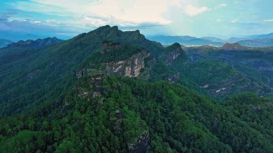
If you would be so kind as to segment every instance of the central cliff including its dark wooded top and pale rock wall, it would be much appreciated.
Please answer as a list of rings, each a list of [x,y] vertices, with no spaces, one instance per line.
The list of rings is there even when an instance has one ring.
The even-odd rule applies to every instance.
[[[95,69],[106,75],[138,77],[145,67],[145,58],[149,56],[150,53],[145,49],[124,46],[120,43],[104,42],[99,53],[90,59],[90,65],[94,65],[92,62],[97,60],[96,64],[100,66]],[[98,58],[100,59],[98,60]],[[79,79],[90,71],[92,68],[84,68],[79,70],[76,76]]]

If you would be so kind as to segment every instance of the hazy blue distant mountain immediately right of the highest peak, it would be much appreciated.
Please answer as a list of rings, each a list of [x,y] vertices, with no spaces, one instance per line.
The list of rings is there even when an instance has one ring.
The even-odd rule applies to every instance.
[[[202,46],[202,45],[212,45],[212,46],[222,46],[222,42],[217,42],[210,40],[211,37],[196,38],[191,36],[149,36],[148,39],[158,41],[164,45],[170,45],[178,42],[186,46]]]

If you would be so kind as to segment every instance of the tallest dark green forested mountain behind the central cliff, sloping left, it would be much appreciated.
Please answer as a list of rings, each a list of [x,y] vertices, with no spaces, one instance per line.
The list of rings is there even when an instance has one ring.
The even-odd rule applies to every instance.
[[[50,94],[48,89],[58,89],[58,86],[64,88],[63,84],[69,83],[71,75],[75,75],[76,71],[83,69],[85,64],[89,65],[89,58],[100,49],[105,41],[144,47],[154,56],[164,51],[161,44],[145,39],[140,31],[122,32],[117,27],[110,26],[100,27],[73,39],[40,49],[21,47],[20,56],[16,55],[18,47],[10,49],[7,47],[0,51],[3,53],[3,59],[7,59],[6,61],[1,60],[4,63],[0,65],[3,72],[0,74],[0,78],[4,81],[0,85],[2,114],[11,113],[11,109],[13,109],[13,113],[20,112],[24,109],[23,106],[27,106],[24,105],[26,102],[28,105],[35,103],[37,100],[32,97],[37,96],[37,92],[41,96],[40,98],[45,99],[52,98],[57,93],[61,94],[61,91],[54,90]],[[13,60],[8,60],[7,56]],[[29,90],[29,97],[25,99],[23,95],[26,89]],[[43,95],[48,96],[44,97]],[[18,101],[18,99],[22,99],[22,101]],[[12,104],[9,106],[10,109],[4,109],[4,105],[7,103]],[[21,107],[17,108],[18,106]]]

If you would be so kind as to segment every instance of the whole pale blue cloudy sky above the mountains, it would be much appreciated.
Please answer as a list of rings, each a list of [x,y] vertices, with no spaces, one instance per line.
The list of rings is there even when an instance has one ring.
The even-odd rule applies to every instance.
[[[272,0],[2,0],[0,31],[68,39],[110,25],[225,39],[273,32],[272,6]]]

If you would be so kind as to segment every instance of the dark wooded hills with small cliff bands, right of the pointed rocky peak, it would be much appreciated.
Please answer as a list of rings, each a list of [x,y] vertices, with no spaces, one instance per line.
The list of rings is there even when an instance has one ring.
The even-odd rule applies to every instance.
[[[252,48],[227,43],[223,47],[186,49],[190,62],[181,71],[185,74],[184,85],[212,97],[242,92],[271,96],[272,47]]]

